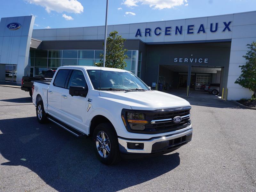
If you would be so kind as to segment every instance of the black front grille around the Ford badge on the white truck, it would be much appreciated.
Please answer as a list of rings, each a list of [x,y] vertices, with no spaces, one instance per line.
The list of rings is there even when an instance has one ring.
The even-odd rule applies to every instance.
[[[153,114],[146,114],[146,119],[151,122],[151,120],[161,120],[161,119],[173,119],[176,116],[186,116],[190,113],[189,108],[174,108],[174,109],[165,109],[157,110]],[[146,124],[146,129],[149,132],[169,132],[175,131],[178,129],[182,129],[187,127],[191,124],[190,118],[182,119],[180,123],[173,123],[171,122],[163,122],[163,123],[156,123],[156,124]]]

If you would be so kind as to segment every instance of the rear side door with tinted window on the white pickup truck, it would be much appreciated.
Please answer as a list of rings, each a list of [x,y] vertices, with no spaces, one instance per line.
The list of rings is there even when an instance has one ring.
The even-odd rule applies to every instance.
[[[53,82],[48,88],[48,113],[63,121],[63,116],[61,116],[61,95],[63,90],[67,89],[67,79],[70,74],[70,69],[59,69],[57,75],[53,79]]]

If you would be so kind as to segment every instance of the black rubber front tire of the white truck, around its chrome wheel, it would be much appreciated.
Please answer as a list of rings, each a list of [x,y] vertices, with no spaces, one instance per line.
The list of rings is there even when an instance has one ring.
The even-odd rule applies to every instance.
[[[97,139],[98,138],[97,136],[99,136],[99,134],[102,132],[107,135],[107,137],[105,137],[105,138],[108,138],[109,142],[106,142],[104,144],[104,148],[101,148],[101,150],[98,150],[97,142],[98,142],[98,144],[100,144],[100,142],[99,142],[100,140]],[[103,164],[106,164],[106,165],[112,165],[112,164],[116,164],[120,161],[120,151],[119,151],[117,135],[116,135],[115,128],[113,127],[113,125],[111,123],[102,123],[102,124],[97,125],[97,127],[95,128],[95,130],[93,132],[93,142],[94,142],[95,154],[96,154],[97,158],[100,160],[100,162],[102,162]],[[100,146],[103,146],[103,144],[100,144]],[[99,148],[100,148],[100,146],[99,146]],[[104,149],[106,152],[106,156],[103,154]],[[107,149],[108,150],[110,149],[109,153],[108,153]],[[102,154],[100,155],[100,153],[102,153]],[[105,157],[103,157],[102,155]]]

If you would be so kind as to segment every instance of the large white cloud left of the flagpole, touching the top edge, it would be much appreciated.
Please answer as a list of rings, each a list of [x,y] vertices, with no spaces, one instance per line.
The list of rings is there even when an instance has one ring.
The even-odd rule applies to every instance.
[[[27,0],[30,4],[40,5],[50,13],[51,11],[82,13],[84,12],[83,5],[77,0]]]

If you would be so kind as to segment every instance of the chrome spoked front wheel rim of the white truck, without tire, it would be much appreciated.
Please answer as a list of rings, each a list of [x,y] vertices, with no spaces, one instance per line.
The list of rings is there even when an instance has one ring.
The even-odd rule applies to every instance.
[[[107,158],[110,153],[110,142],[108,135],[100,131],[96,137],[96,148],[101,157]]]

